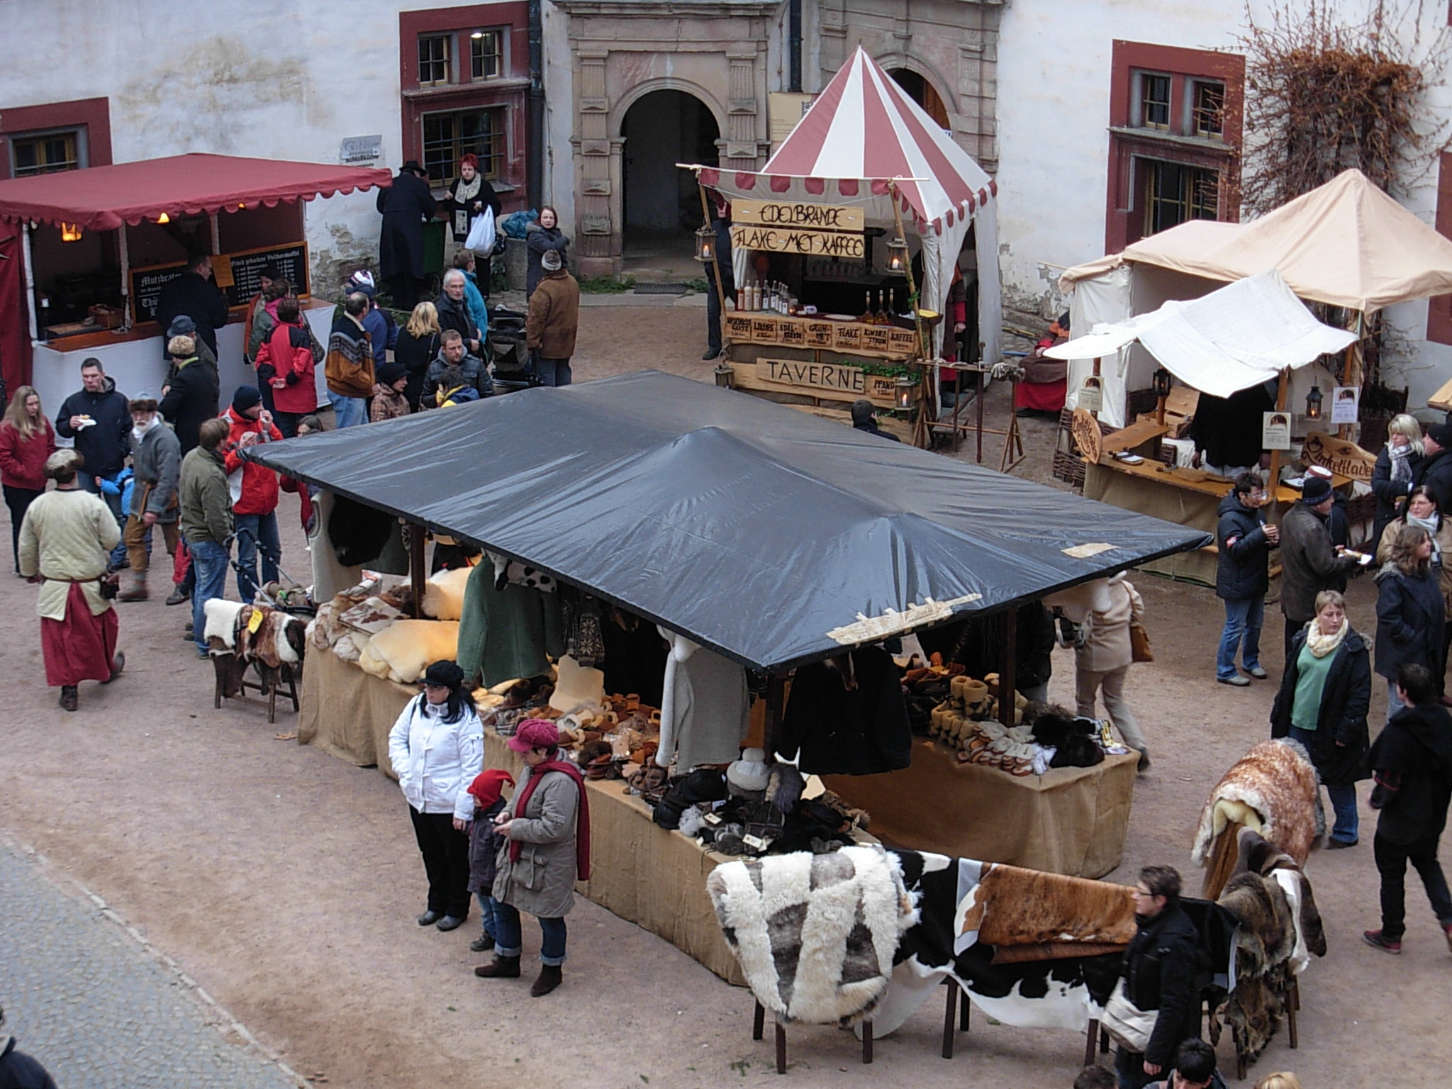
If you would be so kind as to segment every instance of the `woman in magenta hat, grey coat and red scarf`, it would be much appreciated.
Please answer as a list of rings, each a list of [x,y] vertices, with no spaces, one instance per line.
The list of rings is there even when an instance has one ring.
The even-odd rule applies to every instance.
[[[529,775],[498,817],[499,873],[494,878],[494,961],[475,976],[518,979],[523,938],[520,912],[540,921],[540,974],[533,998],[560,983],[565,963],[565,915],[575,906],[575,880],[590,880],[590,803],[585,778],[559,759],[559,730],[544,719],[520,723],[510,748],[524,758]]]

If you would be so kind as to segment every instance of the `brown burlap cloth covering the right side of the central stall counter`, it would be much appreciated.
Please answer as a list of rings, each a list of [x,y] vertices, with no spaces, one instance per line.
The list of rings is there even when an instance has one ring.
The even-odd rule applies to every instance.
[[[923,738],[909,768],[822,781],[871,813],[873,835],[889,847],[1104,877],[1124,857],[1138,759],[1131,752],[1093,768],[1016,778],[960,764],[957,754]]]

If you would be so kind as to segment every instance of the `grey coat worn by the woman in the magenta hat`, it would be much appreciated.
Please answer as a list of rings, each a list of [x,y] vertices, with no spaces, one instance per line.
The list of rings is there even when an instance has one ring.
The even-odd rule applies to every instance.
[[[536,772],[530,772],[531,775]],[[524,783],[514,799],[524,796]],[[510,802],[514,813],[517,802]],[[494,899],[542,919],[568,915],[575,906],[575,813],[579,787],[562,771],[546,771],[523,817],[515,813],[510,838],[499,847]],[[510,847],[523,844],[518,861]]]

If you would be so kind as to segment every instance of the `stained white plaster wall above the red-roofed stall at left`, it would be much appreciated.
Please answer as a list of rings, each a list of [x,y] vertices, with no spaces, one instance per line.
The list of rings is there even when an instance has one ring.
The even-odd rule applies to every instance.
[[[0,109],[109,96],[116,163],[190,151],[337,163],[346,136],[382,132],[379,166],[396,168],[398,13],[465,3],[6,0]],[[308,203],[315,269],[376,263],[375,199]]]

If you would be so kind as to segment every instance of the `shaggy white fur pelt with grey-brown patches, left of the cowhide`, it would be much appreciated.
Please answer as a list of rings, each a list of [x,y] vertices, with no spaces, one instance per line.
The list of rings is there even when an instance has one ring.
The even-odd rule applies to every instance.
[[[783,1022],[868,1016],[918,918],[897,858],[876,845],[725,862],[706,889],[748,986]]]

